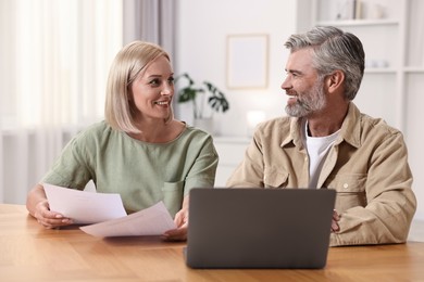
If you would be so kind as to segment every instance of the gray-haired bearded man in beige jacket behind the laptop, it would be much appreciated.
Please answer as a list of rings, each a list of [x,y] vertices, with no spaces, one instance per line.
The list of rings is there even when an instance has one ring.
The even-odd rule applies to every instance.
[[[315,27],[285,46],[289,116],[258,126],[227,185],[334,189],[332,246],[406,242],[416,200],[402,133],[351,102],[364,70],[361,41]]]

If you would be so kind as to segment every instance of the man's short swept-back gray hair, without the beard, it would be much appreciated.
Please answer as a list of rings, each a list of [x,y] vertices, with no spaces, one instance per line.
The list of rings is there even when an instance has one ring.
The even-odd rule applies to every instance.
[[[284,46],[290,52],[312,48],[312,64],[319,75],[329,75],[336,69],[344,72],[345,97],[354,99],[365,67],[365,53],[357,36],[336,27],[319,26],[305,34],[291,35]]]

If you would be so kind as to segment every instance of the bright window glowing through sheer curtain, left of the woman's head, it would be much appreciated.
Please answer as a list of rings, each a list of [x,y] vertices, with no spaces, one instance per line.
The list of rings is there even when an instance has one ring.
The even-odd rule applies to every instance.
[[[0,0],[2,128],[85,124],[103,116],[122,47],[116,0]]]

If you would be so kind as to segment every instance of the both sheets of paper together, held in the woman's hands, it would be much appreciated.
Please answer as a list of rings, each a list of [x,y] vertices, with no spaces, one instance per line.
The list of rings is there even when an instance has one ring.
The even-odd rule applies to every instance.
[[[79,191],[43,183],[50,210],[72,218],[95,236],[160,235],[176,225],[163,202],[127,215],[120,194]]]

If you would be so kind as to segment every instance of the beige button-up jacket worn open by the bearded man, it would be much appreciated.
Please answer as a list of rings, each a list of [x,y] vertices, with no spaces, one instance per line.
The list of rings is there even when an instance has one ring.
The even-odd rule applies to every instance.
[[[257,128],[228,187],[307,188],[309,157],[301,120],[280,117]],[[323,166],[319,188],[335,189],[340,231],[331,245],[406,242],[416,208],[402,133],[350,103]],[[296,215],[294,215],[296,216]]]

